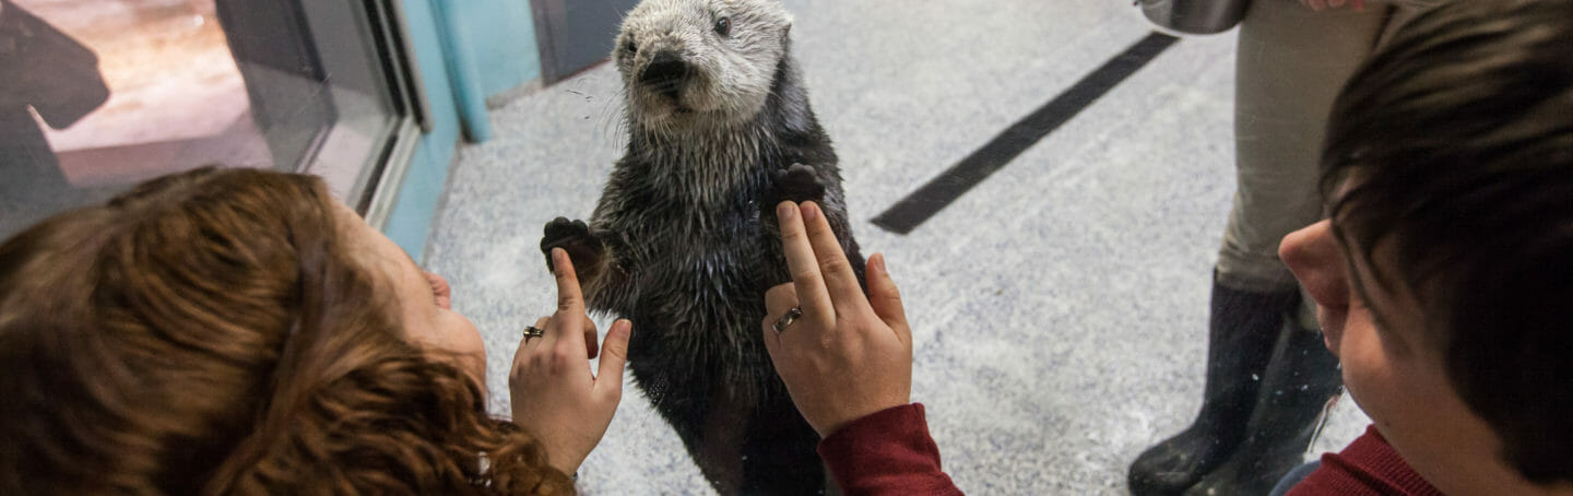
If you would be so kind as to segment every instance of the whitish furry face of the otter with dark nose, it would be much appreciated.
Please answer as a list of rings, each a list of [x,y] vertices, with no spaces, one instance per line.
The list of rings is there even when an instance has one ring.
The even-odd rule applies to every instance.
[[[612,60],[647,129],[736,124],[764,107],[791,16],[774,0],[645,0]]]

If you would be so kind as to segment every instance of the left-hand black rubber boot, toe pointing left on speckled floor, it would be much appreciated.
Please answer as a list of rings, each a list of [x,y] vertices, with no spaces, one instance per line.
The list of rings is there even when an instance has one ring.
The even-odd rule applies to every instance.
[[[1206,389],[1189,428],[1147,449],[1131,463],[1131,494],[1180,494],[1229,460],[1244,441],[1246,424],[1285,315],[1299,291],[1254,293],[1227,288],[1213,277],[1206,342]]]

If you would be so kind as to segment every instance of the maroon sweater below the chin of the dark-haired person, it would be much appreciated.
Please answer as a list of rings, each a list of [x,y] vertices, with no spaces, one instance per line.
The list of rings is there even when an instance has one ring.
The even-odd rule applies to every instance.
[[[1420,479],[1387,439],[1383,439],[1376,425],[1372,425],[1342,452],[1321,455],[1321,468],[1310,472],[1287,496],[1318,494],[1441,496],[1442,493]]]

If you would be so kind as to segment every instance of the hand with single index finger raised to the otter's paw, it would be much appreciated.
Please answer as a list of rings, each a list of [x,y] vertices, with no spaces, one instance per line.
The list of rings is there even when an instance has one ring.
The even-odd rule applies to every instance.
[[[579,277],[563,249],[552,250],[557,276],[557,313],[541,318],[541,337],[525,337],[513,354],[508,392],[513,422],[546,447],[547,461],[573,474],[601,442],[617,403],[623,398],[623,364],[632,324],[618,320],[606,334],[601,370],[590,373],[596,356],[595,323],[585,315]],[[580,337],[582,335],[582,337]]]

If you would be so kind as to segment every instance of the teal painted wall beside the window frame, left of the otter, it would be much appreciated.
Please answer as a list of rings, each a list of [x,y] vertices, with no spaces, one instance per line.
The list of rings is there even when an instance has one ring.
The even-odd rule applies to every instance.
[[[484,140],[489,126],[473,121],[484,120],[477,102],[540,79],[541,58],[529,0],[401,2],[431,102],[433,132],[415,150],[384,231],[411,257],[423,260],[461,129],[472,137],[480,129]],[[477,98],[472,88],[484,94]]]

